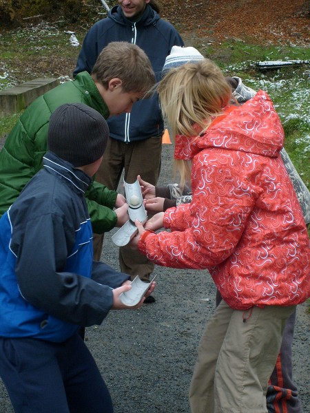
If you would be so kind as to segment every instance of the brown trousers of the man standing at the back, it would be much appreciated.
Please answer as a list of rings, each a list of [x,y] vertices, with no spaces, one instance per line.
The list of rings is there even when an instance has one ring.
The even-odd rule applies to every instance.
[[[161,136],[131,143],[109,138],[96,181],[116,191],[124,171],[124,180],[130,184],[141,175],[143,180],[156,185],[161,171],[161,151]],[[99,255],[100,258],[102,242],[96,244],[94,257]],[[130,246],[119,248],[119,264],[123,273],[132,275],[132,278],[139,275],[143,281],[149,281],[149,275],[154,271],[154,264]]]

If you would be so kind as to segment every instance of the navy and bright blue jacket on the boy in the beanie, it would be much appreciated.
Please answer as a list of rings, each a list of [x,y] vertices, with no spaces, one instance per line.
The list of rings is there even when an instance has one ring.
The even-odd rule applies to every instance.
[[[62,342],[101,324],[130,277],[93,262],[91,178],[52,152],[0,220],[0,337]]]

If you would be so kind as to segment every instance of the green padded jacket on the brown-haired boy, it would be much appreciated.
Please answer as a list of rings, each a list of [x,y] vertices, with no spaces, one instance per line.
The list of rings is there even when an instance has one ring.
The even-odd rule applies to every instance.
[[[0,217],[43,167],[50,116],[65,103],[84,103],[105,119],[110,114],[87,72],[79,73],[74,81],[62,83],[34,100],[14,125],[0,152]],[[88,189],[86,201],[94,233],[104,233],[116,226],[117,216],[113,211],[116,196],[116,191],[99,182],[93,182]]]

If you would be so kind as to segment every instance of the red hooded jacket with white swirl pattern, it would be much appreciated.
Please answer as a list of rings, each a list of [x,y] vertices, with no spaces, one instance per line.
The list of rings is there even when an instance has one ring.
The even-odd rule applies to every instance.
[[[309,297],[307,229],[280,149],[284,132],[258,92],[194,138],[176,138],[192,159],[190,204],[167,209],[171,231],[145,231],[141,253],[158,265],[208,268],[231,308],[299,304]]]

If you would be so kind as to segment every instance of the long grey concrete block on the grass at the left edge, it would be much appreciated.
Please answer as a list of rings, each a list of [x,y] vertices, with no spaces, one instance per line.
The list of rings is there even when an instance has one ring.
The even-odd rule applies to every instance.
[[[59,84],[58,78],[37,78],[0,90],[0,118],[20,112],[39,96]]]

